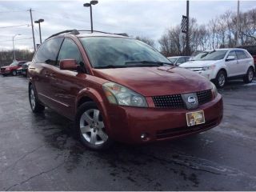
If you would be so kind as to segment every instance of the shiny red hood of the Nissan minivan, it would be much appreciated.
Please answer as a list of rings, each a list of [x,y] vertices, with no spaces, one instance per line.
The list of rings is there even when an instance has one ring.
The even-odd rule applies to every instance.
[[[201,75],[170,66],[94,69],[94,75],[144,96],[184,94],[212,88],[210,81]]]

